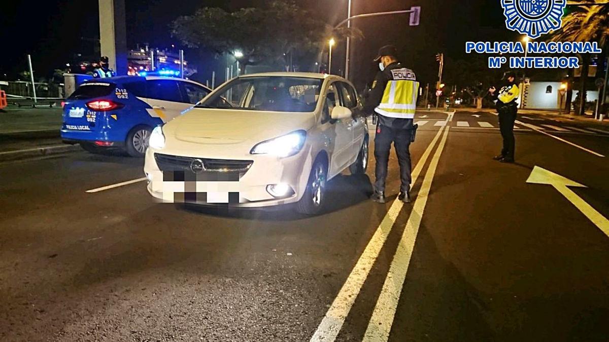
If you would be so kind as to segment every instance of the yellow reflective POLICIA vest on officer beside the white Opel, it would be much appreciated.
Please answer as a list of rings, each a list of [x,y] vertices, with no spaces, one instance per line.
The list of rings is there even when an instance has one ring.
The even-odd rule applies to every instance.
[[[381,103],[375,108],[382,116],[414,119],[419,83],[410,69],[390,70],[393,79],[387,83]]]

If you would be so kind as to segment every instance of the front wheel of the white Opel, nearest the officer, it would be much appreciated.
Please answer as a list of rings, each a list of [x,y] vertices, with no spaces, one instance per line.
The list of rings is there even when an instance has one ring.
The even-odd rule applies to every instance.
[[[328,170],[325,162],[317,159],[311,169],[309,181],[306,184],[305,194],[298,201],[297,211],[305,215],[315,215],[323,208],[326,196],[326,177]]]

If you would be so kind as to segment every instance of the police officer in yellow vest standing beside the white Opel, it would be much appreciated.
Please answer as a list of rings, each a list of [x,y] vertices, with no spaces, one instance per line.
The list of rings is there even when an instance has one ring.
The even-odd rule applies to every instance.
[[[398,199],[410,203],[410,143],[414,141],[417,127],[413,124],[419,83],[415,73],[397,60],[398,51],[393,46],[383,46],[375,62],[381,71],[372,83],[372,89],[364,106],[364,113],[378,114],[375,138],[376,181],[371,200],[385,203],[385,180],[392,143],[400,163],[401,188]]]

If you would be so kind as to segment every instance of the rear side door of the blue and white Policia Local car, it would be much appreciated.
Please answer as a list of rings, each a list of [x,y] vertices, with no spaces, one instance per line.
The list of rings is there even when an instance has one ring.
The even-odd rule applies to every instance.
[[[192,106],[182,99],[179,81],[172,79],[146,80],[145,101],[152,107],[147,109],[150,116],[159,117],[163,122],[169,122]]]

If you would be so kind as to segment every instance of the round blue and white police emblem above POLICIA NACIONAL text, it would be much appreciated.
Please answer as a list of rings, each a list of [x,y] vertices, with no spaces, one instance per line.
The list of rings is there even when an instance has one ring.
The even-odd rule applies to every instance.
[[[501,0],[505,26],[530,38],[560,29],[566,4],[566,0]]]

